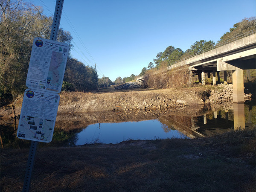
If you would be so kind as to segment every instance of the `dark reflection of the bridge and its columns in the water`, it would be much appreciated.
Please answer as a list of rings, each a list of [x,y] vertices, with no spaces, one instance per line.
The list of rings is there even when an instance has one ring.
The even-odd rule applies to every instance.
[[[168,129],[176,129],[191,139],[237,130],[242,128],[240,126],[242,123],[244,123],[246,128],[255,128],[255,125],[251,122],[252,107],[250,106],[247,113],[248,116],[246,123],[244,113],[237,113],[236,108],[244,108],[244,104],[235,103],[233,111],[214,111],[213,113],[204,114],[203,116],[168,115],[161,116],[159,121],[167,125]]]

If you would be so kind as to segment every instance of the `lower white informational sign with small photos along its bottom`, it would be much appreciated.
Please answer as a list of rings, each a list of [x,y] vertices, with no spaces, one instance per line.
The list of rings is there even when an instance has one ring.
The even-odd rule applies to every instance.
[[[49,143],[52,140],[59,100],[59,95],[56,93],[26,89],[17,137]]]

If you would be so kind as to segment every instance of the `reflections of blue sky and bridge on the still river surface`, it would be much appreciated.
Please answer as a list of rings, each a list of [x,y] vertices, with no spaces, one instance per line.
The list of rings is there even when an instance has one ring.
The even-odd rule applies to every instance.
[[[245,108],[247,113],[245,114]],[[252,117],[254,114],[254,118]],[[249,119],[247,123],[245,118]],[[76,145],[86,143],[120,143],[123,140],[154,140],[156,138],[196,138],[223,134],[237,129],[255,128],[255,106],[234,104],[233,109],[205,111],[204,114],[162,115],[142,122],[104,123],[89,125],[78,135]],[[103,127],[103,128],[101,128]]]

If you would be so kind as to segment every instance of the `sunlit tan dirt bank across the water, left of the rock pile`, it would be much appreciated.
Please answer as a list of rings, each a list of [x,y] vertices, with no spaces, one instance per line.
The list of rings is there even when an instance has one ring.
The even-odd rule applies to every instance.
[[[207,92],[209,87],[200,89],[137,89],[115,90],[108,93],[82,93],[62,92],[58,114],[81,113],[91,111],[126,111],[142,109],[182,108],[184,106],[202,105],[204,98],[202,93]],[[20,114],[22,97],[15,102],[15,113]],[[13,116],[12,105],[1,108],[1,117]]]

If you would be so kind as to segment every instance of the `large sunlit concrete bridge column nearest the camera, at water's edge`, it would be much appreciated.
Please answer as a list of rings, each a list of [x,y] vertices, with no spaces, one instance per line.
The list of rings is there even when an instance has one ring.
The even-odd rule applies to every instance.
[[[244,103],[244,72],[237,68],[233,70],[233,102]]]

